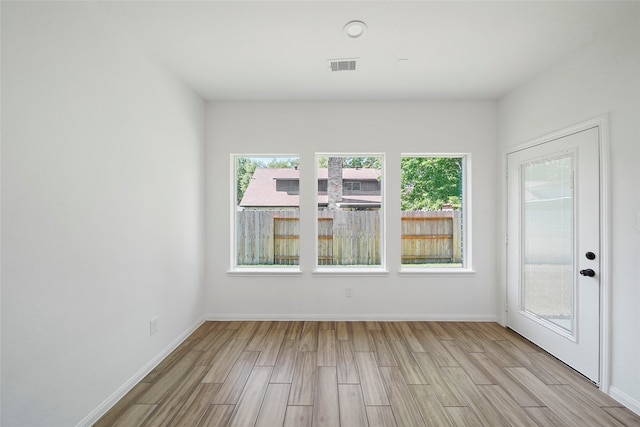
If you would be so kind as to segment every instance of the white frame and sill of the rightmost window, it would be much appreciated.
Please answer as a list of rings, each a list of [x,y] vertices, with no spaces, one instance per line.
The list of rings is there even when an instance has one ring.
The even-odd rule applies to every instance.
[[[471,207],[471,153],[401,153],[400,160],[405,157],[424,158],[462,158],[462,266],[461,267],[412,267],[400,262],[398,274],[421,275],[468,275],[475,274],[472,262],[472,207]],[[402,236],[398,236],[401,239]],[[402,249],[400,249],[401,251]],[[398,254],[401,256],[401,253]]]

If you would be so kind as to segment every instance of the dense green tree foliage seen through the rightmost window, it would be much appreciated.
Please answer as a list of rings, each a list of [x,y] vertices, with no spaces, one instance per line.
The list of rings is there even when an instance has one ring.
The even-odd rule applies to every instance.
[[[401,174],[403,211],[438,210],[444,204],[460,209],[462,158],[404,157]]]

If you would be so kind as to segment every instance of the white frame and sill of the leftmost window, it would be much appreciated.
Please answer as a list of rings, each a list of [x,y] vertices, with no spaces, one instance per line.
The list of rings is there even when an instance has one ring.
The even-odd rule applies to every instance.
[[[229,191],[229,207],[230,207],[230,268],[228,270],[228,274],[231,275],[291,275],[291,274],[302,274],[302,270],[300,268],[300,261],[298,265],[291,266],[278,266],[278,267],[251,267],[246,265],[238,265],[237,259],[237,241],[236,241],[236,226],[237,226],[237,176],[236,176],[236,162],[239,158],[264,158],[264,159],[273,159],[273,158],[297,158],[300,161],[300,154],[292,154],[292,153],[231,153],[229,156],[229,176],[230,176],[230,191]],[[302,179],[302,177],[300,178]],[[302,185],[300,185],[302,189]],[[298,212],[301,212],[302,206],[298,206]]]

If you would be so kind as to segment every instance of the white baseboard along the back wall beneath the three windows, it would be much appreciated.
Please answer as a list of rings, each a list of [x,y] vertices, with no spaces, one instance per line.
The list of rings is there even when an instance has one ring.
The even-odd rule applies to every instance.
[[[497,322],[494,314],[207,314],[207,320]]]

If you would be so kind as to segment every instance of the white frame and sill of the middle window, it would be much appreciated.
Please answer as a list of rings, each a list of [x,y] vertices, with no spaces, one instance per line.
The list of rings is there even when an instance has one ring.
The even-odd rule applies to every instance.
[[[318,265],[318,159],[320,157],[379,157],[381,159],[381,167],[380,167],[380,265],[372,265],[372,266],[357,266],[351,267],[348,265],[345,266],[326,266],[326,265]],[[380,152],[316,152],[314,156],[314,182],[315,182],[315,195],[314,200],[316,203],[315,206],[315,233],[314,233],[314,275],[360,275],[360,276],[369,276],[369,275],[386,275],[389,274],[387,270],[387,227],[386,227],[386,154]]]

